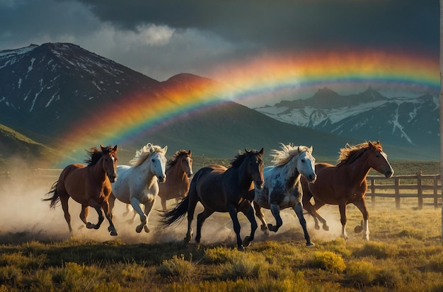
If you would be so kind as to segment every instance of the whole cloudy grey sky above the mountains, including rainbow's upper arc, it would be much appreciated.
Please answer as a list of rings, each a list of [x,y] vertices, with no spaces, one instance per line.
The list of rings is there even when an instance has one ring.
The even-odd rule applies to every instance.
[[[45,42],[74,43],[158,81],[213,78],[243,88],[236,95],[251,105],[323,84],[396,81],[413,94],[439,86],[438,0],[0,1],[0,50]]]

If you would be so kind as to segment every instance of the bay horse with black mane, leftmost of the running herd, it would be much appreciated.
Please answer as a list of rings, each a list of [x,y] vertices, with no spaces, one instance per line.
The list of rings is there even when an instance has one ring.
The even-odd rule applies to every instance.
[[[71,215],[68,210],[69,197],[81,204],[80,218],[86,224],[86,228],[100,228],[104,220],[103,211],[109,221],[108,231],[110,235],[117,235],[117,230],[110,214],[109,202],[111,192],[111,182],[117,181],[117,145],[103,146],[101,150],[96,147],[87,151],[90,158],[85,160],[88,165],[79,163],[68,165],[59,175],[57,182],[54,182],[52,189],[47,195],[52,197],[43,199],[50,201],[50,207],[54,209],[58,202],[62,203],[64,218],[68,223],[69,232],[72,233]],[[87,222],[88,206],[96,209],[98,223]]]

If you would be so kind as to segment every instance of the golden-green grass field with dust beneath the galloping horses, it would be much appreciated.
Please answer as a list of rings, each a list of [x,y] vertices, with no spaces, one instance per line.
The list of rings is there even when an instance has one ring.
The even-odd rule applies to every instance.
[[[417,171],[406,172],[411,163],[392,164],[398,174]],[[439,163],[433,165],[418,167],[438,173]],[[418,209],[417,199],[402,199],[399,210],[390,198],[368,204],[369,242],[353,231],[362,219],[355,206],[347,206],[347,240],[340,238],[338,207],[324,206],[329,231],[315,230],[306,216],[314,247],[305,246],[294,211],[286,209],[277,233],[257,230],[246,252],[238,252],[228,214],[209,217],[196,245],[183,242],[185,221],[160,228],[157,211],[149,217],[151,232],[136,233],[138,218],[127,223],[118,202],[117,237],[108,234],[106,221],[100,230],[81,228],[74,202],[71,236],[61,207],[52,211],[41,202],[50,185],[0,185],[0,291],[443,290],[442,209]],[[96,221],[95,212],[88,218]],[[239,218],[244,238],[250,228],[243,214]],[[273,221],[269,210],[265,218]]]

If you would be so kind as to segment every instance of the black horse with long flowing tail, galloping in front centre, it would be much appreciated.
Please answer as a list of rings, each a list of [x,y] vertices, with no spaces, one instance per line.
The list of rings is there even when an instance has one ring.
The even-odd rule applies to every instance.
[[[255,187],[262,189],[263,180],[263,148],[260,151],[249,151],[245,148],[244,153],[238,153],[228,168],[222,165],[209,165],[195,173],[191,180],[188,196],[171,211],[161,214],[163,226],[179,223],[188,213],[188,233],[185,242],[192,238],[191,223],[194,219],[194,211],[197,202],[204,207],[204,211],[197,215],[197,234],[195,241],[200,244],[201,229],[206,218],[214,212],[229,212],[236,233],[237,249],[244,251],[244,247],[254,239],[257,229],[254,211],[251,206],[253,197],[250,190]],[[246,236],[243,242],[240,237],[240,223],[237,213],[241,211],[251,222],[251,234]]]

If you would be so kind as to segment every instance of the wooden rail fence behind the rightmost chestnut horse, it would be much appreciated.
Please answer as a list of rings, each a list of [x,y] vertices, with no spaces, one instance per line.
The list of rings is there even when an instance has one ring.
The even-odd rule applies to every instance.
[[[400,209],[401,198],[417,198],[418,208],[422,209],[423,199],[430,198],[437,208],[442,198],[441,175],[422,175],[421,171],[415,175],[393,175],[390,178],[368,175],[367,183],[366,197],[371,197],[372,206],[375,206],[376,197],[395,198],[396,209]]]

